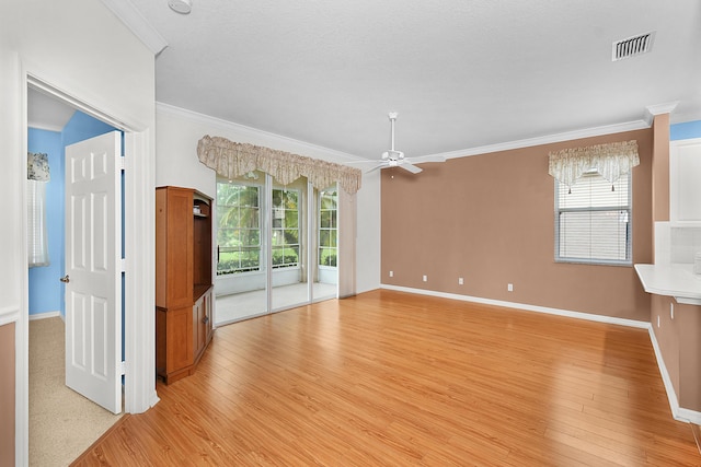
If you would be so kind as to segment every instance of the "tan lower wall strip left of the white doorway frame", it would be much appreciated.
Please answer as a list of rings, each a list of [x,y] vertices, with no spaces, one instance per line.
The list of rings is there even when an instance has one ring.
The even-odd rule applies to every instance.
[[[0,466],[14,465],[14,323],[0,326]]]

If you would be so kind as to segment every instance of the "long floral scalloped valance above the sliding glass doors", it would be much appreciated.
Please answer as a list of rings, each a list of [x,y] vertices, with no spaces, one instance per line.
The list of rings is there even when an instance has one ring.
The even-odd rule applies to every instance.
[[[229,179],[249,172],[271,174],[281,185],[304,176],[314,188],[323,189],[334,183],[347,194],[360,189],[361,171],[265,147],[230,141],[221,137],[204,136],[197,143],[199,162]]]

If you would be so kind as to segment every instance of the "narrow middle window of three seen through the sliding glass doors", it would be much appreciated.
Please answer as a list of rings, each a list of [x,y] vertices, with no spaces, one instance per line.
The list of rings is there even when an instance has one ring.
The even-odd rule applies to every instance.
[[[298,190],[273,190],[273,268],[299,264],[298,206]]]

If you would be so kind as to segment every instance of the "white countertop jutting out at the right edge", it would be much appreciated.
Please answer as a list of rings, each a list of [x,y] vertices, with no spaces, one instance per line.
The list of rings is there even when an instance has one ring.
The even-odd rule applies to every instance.
[[[674,296],[679,303],[701,305],[701,275],[693,273],[693,265],[635,265],[645,292]]]

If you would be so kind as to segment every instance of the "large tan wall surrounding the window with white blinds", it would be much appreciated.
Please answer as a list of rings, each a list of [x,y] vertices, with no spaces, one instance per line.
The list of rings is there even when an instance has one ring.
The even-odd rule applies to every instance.
[[[548,153],[632,139],[641,156],[633,170],[633,261],[651,262],[653,131],[645,129],[451,159],[425,164],[418,175],[383,170],[381,282],[647,322],[650,296],[632,267],[554,261]]]

